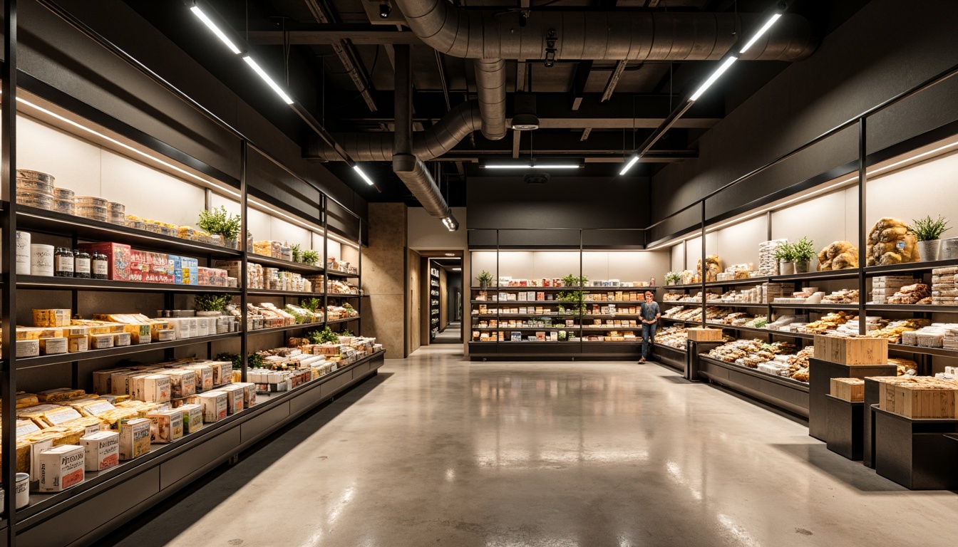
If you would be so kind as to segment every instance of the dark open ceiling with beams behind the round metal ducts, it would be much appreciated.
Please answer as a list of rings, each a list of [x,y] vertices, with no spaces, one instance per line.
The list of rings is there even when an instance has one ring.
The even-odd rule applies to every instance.
[[[219,16],[246,39],[264,68],[331,132],[392,131],[394,44],[411,44],[414,129],[429,127],[459,103],[475,98],[473,61],[447,57],[422,44],[397,24],[395,7],[379,17],[388,0],[208,0]],[[161,32],[217,79],[234,89],[287,135],[305,142],[311,130],[190,13],[182,0],[126,0]],[[453,0],[461,9],[528,10],[530,17],[547,10],[705,11],[760,13],[770,0]],[[789,12],[802,14],[825,36],[867,0],[795,0]],[[309,42],[309,43],[303,43]],[[580,176],[614,176],[622,160],[653,130],[634,127],[636,119],[658,121],[715,68],[715,61],[625,63],[563,61],[545,67],[541,60],[506,61],[507,104],[511,116],[516,92],[536,94],[536,114],[549,128],[510,131],[499,141],[479,131],[450,150],[437,168],[440,190],[451,206],[466,205],[466,184],[482,184],[479,159],[528,156],[587,158]],[[783,61],[737,63],[722,84],[696,102],[654,149],[655,162],[640,164],[630,174],[650,176],[668,162],[695,161],[696,142],[712,125],[748,99],[787,67]],[[352,70],[351,70],[352,69]],[[648,124],[646,124],[648,125]],[[416,199],[393,174],[388,163],[364,164],[381,192],[358,180],[345,164],[327,167],[369,201]],[[561,173],[553,173],[561,176]]]

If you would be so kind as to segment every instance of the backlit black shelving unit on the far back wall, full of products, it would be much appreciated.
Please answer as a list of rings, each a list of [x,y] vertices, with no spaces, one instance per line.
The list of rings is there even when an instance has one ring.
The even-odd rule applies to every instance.
[[[639,307],[658,288],[641,278],[667,263],[651,251],[475,250],[471,258],[472,359],[637,356]],[[538,273],[552,276],[530,275]]]

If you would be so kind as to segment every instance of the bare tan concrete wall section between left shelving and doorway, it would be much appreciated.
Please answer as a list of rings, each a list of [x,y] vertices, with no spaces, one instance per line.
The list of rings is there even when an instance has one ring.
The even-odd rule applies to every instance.
[[[404,357],[403,270],[406,206],[370,204],[369,247],[363,249],[362,330],[386,348],[387,358]]]

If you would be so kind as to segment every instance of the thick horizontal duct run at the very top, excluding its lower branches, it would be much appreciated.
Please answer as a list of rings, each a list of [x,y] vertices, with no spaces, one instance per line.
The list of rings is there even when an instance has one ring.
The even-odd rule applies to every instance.
[[[460,10],[447,0],[395,0],[427,45],[452,57],[485,59],[709,60],[722,57],[759,15],[658,11]],[[554,34],[555,51],[547,36]],[[818,45],[809,21],[786,14],[742,59],[796,61]]]

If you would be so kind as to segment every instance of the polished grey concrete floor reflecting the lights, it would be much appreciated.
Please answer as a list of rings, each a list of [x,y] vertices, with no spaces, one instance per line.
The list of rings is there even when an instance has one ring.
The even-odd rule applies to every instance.
[[[433,347],[149,512],[117,545],[954,545],[911,492],[804,425],[634,362]]]

